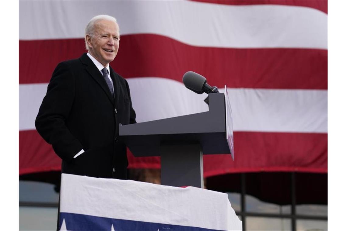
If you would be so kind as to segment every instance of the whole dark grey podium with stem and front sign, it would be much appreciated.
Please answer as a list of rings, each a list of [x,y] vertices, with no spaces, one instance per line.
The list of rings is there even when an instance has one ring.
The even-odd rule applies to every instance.
[[[203,188],[203,154],[233,155],[226,87],[225,94],[209,94],[208,102],[208,112],[120,124],[119,136],[135,157],[161,157],[162,185]]]

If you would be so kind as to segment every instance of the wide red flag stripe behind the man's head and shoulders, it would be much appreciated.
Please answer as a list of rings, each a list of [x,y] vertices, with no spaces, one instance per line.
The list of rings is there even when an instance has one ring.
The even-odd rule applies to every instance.
[[[49,82],[59,62],[83,52],[83,39],[19,41],[19,83]],[[218,87],[328,87],[328,51],[320,49],[196,47],[160,35],[138,34],[122,36],[111,66],[125,78],[165,77],[181,82],[186,71],[195,71]]]

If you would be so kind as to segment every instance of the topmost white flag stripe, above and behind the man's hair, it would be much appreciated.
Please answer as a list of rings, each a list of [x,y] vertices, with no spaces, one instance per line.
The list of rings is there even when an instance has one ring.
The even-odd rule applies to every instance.
[[[230,6],[194,1],[20,1],[19,4],[19,39],[24,40],[83,38],[88,21],[102,13],[117,18],[122,35],[159,34],[208,47],[327,49],[328,16],[308,7]]]

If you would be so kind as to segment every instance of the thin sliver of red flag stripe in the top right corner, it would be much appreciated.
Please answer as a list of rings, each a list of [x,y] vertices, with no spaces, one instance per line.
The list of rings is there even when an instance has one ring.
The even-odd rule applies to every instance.
[[[196,2],[223,4],[223,5],[285,5],[310,7],[328,14],[327,0],[191,0]]]

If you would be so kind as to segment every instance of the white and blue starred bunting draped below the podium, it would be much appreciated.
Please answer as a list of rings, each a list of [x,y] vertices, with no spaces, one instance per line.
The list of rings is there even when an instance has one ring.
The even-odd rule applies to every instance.
[[[60,230],[242,230],[225,193],[62,174]]]

